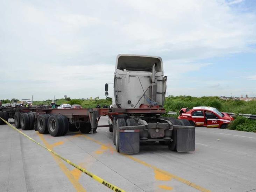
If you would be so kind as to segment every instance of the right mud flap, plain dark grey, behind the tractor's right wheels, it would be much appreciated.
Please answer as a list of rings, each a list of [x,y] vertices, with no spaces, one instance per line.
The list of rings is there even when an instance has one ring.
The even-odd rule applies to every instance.
[[[173,126],[173,137],[176,137],[176,149],[178,152],[195,150],[195,127]]]

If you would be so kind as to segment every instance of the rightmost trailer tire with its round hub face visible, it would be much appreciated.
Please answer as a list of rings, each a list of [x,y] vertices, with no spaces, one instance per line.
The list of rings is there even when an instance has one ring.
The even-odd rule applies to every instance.
[[[51,136],[56,137],[63,133],[63,121],[61,115],[51,115],[47,122],[48,132]]]

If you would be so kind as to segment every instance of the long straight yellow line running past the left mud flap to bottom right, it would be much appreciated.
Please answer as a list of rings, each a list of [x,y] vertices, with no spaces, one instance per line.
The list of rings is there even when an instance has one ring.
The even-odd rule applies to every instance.
[[[91,138],[91,137],[89,137],[89,136],[86,136],[86,135],[81,135],[81,136],[83,136],[83,137],[87,138],[88,140],[91,140],[91,141],[93,141],[93,142],[95,142],[95,143],[98,143],[99,145],[103,145],[103,146],[109,148],[110,150],[113,150],[113,148],[114,148],[114,147],[110,147],[110,146],[108,146],[108,145],[106,145],[106,144],[104,144],[104,143],[102,143],[102,142],[100,142],[100,141],[98,141],[98,140],[95,140],[94,138]],[[114,151],[114,150],[113,150],[113,151]],[[181,177],[179,177],[179,176],[173,175],[172,173],[169,173],[169,172],[167,172],[167,171],[164,171],[164,170],[162,170],[162,169],[159,169],[159,168],[157,168],[156,166],[150,165],[149,163],[146,163],[146,162],[144,162],[144,161],[141,161],[140,159],[137,159],[137,158],[135,158],[135,157],[133,157],[133,156],[124,155],[124,154],[122,154],[122,155],[125,156],[125,157],[128,157],[129,159],[131,159],[131,160],[133,160],[133,161],[135,161],[135,162],[137,162],[137,163],[140,163],[140,164],[142,164],[142,165],[144,165],[144,166],[147,166],[148,168],[151,168],[151,169],[153,169],[154,171],[157,171],[157,172],[162,173],[163,175],[166,175],[166,176],[168,176],[168,177],[170,177],[170,178],[176,179],[176,180],[178,180],[178,181],[181,182],[181,183],[184,183],[184,184],[186,184],[186,185],[189,185],[189,186],[193,187],[194,189],[197,189],[198,191],[201,191],[201,192],[211,192],[210,190],[207,190],[207,189],[205,189],[204,187],[201,187],[200,185],[197,185],[197,184],[195,184],[195,183],[190,182],[189,180],[183,179],[183,178],[181,178]]]

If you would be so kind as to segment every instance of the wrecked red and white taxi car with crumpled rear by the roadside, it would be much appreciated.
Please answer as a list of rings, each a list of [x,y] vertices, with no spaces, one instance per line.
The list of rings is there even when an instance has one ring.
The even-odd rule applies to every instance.
[[[214,107],[182,108],[178,119],[187,119],[191,126],[217,127],[226,129],[234,118],[227,113],[219,112]]]

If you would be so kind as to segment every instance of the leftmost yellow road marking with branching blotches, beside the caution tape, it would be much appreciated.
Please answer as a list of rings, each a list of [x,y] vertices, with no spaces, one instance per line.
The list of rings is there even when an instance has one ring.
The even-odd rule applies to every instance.
[[[58,145],[62,145],[64,142],[61,141],[61,142],[57,142],[57,143],[54,143],[54,144],[49,144],[44,136],[42,134],[39,134],[38,133],[38,136],[40,137],[40,139],[43,141],[43,143],[45,144],[45,146],[47,148],[49,148],[50,150],[53,150],[53,148],[55,146],[58,146]],[[72,185],[74,186],[74,189],[76,189],[76,191],[78,192],[86,192],[86,190],[84,189],[84,187],[79,183],[78,179],[78,173],[75,173],[74,174],[74,171],[70,171],[67,166],[64,164],[63,161],[61,161],[61,159],[59,159],[57,156],[55,156],[54,154],[52,154],[52,157],[55,159],[56,163],[59,165],[59,167],[61,168],[61,170],[63,171],[63,173],[66,175],[66,177],[69,179],[70,183],[72,183]],[[77,172],[80,172],[82,173],[80,170],[78,169],[75,169],[77,170]],[[80,174],[81,175],[81,174]]]

